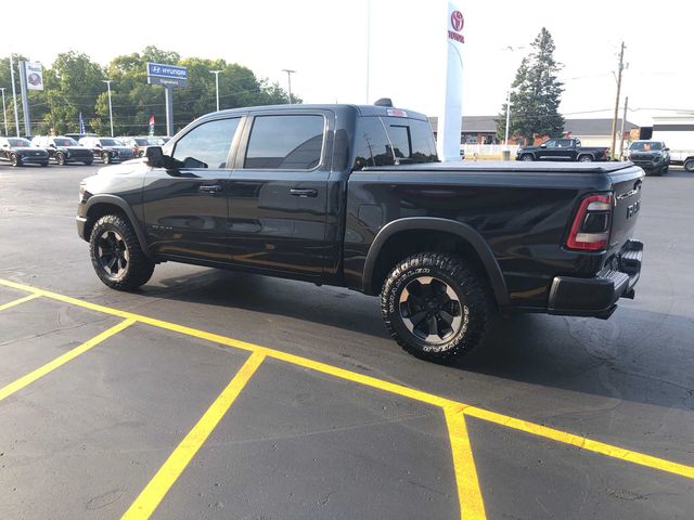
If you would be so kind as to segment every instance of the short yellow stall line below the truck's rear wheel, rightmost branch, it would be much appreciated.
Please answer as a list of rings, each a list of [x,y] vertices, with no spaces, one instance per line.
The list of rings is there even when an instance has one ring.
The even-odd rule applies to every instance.
[[[465,416],[460,410],[445,408],[448,437],[451,440],[453,470],[458,484],[461,520],[485,520],[485,500],[479,491],[479,480],[473,450],[470,445]]]

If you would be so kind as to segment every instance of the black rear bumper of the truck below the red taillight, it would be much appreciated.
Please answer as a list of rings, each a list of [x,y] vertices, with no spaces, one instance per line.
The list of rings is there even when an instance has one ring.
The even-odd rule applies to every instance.
[[[601,272],[594,278],[555,276],[548,312],[567,316],[608,318],[619,298],[633,298],[641,275],[643,244],[630,240],[618,257],[618,269]]]

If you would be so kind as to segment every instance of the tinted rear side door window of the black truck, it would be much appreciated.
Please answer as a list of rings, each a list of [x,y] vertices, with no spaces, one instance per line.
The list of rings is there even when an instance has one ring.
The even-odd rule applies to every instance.
[[[312,170],[321,161],[324,128],[319,115],[256,116],[244,168]]]

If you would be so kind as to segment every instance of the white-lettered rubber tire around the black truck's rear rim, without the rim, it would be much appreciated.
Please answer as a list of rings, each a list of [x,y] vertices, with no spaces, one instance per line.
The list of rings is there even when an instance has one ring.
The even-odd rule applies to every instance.
[[[408,328],[402,306],[409,303],[400,301],[412,282],[429,277],[452,289],[461,317],[460,328],[451,328],[450,336],[442,337],[438,344],[422,339]],[[448,253],[422,252],[401,261],[388,274],[381,292],[381,311],[390,336],[402,349],[426,361],[448,363],[483,340],[492,313],[491,295],[484,276],[463,259]],[[430,329],[428,337],[432,337]]]

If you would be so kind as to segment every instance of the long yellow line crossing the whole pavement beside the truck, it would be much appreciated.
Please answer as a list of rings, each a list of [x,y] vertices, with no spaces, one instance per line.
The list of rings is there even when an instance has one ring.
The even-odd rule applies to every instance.
[[[536,424],[528,422],[522,419],[516,419],[514,417],[510,417],[506,415],[497,414],[494,412],[489,412],[483,408],[478,408],[476,406],[471,406],[464,403],[460,403],[458,401],[452,401],[450,399],[441,398],[439,395],[434,395],[432,393],[414,390],[412,388],[408,388],[402,385],[393,384],[389,381],[385,381],[383,379],[364,376],[363,374],[346,370],[344,368],[338,368],[336,366],[327,365],[325,363],[320,363],[313,360],[309,360],[307,358],[288,354],[286,352],[282,352],[279,350],[261,347],[259,344],[241,341],[233,338],[228,338],[226,336],[220,336],[218,334],[206,333],[204,330],[198,330],[195,328],[177,325],[177,324],[165,322],[162,320],[141,316],[139,314],[119,311],[117,309],[111,309],[108,307],[99,306],[97,303],[79,300],[77,298],[72,298],[69,296],[63,296],[56,292],[38,289],[36,287],[31,287],[28,285],[17,284],[16,282],[10,282],[10,281],[0,278],[0,285],[12,287],[18,290],[24,290],[27,292],[33,292],[38,296],[43,296],[46,298],[51,298],[57,301],[63,301],[65,303],[70,303],[73,306],[90,309],[90,310],[102,312],[105,314],[134,320],[140,323],[145,323],[155,327],[184,334],[188,336],[193,336],[195,338],[214,341],[216,343],[226,344],[228,347],[233,347],[235,349],[243,349],[250,352],[262,353],[268,358],[285,361],[287,363],[292,363],[294,365],[298,365],[312,370],[322,372],[324,374],[329,374],[329,375],[339,377],[342,379],[346,379],[352,382],[376,388],[386,392],[402,395],[403,398],[420,401],[422,403],[441,406],[444,408],[462,410],[465,415],[470,415],[484,420],[496,422],[498,425],[506,426],[510,428],[514,428],[516,430],[525,431],[525,432],[544,437],[548,439],[553,439],[555,441],[563,442],[566,444],[571,444],[584,450],[589,450],[595,453],[606,455],[608,457],[627,460],[627,461],[646,466],[653,469],[658,469],[661,471],[667,471],[670,473],[694,479],[694,467],[692,466],[685,466],[682,464],[672,463],[670,460],[665,460],[658,457],[653,457],[651,455],[645,455],[639,452],[625,450],[618,446],[613,446],[613,445],[601,443],[597,441],[591,441],[590,439],[575,435],[573,433],[564,432],[561,430],[554,430],[552,428],[548,428],[541,425],[536,425]]]

